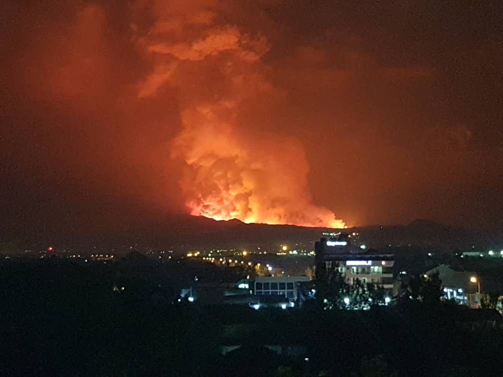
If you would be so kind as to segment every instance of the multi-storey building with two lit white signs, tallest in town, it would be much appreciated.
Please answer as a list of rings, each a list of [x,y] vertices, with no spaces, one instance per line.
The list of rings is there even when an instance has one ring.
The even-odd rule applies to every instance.
[[[350,286],[358,279],[363,284],[372,283],[391,291],[394,255],[378,253],[363,244],[355,245],[351,236],[339,233],[316,242],[316,284],[325,284],[325,272],[337,268]]]

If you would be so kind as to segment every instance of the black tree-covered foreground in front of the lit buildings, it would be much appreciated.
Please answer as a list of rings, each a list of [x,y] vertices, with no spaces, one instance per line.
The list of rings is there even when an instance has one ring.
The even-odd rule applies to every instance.
[[[318,312],[178,304],[194,271],[176,270],[138,261],[3,261],[0,375],[503,373],[500,325],[450,305]],[[232,344],[243,347],[222,355]],[[276,356],[266,344],[304,344],[309,361]]]

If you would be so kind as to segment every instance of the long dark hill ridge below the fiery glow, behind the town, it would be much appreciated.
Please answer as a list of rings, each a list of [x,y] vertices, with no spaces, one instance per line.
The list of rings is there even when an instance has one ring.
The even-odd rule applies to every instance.
[[[34,239],[18,240],[0,235],[0,252],[3,249],[23,252],[26,247],[46,248],[47,245],[88,248],[92,246],[190,248],[257,248],[278,251],[280,244],[290,247],[314,249],[314,242],[328,228],[308,228],[294,225],[245,224],[239,220],[216,221],[201,216],[159,215],[154,219],[127,220],[122,226],[95,233],[70,231],[51,232]],[[370,225],[345,229],[358,232],[362,243],[372,248],[413,248],[452,252],[484,247],[499,247],[503,234],[490,234],[484,230],[469,230],[416,219],[407,225]],[[296,245],[298,244],[298,245]],[[9,246],[6,246],[9,245]],[[12,246],[14,245],[14,246]],[[5,246],[5,247],[4,247]]]

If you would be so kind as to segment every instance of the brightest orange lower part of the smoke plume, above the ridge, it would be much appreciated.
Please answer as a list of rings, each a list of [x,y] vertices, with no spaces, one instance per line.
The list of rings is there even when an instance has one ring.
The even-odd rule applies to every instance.
[[[245,223],[344,228],[333,212],[315,206],[307,190],[308,163],[300,143],[250,134],[222,118],[225,105],[184,112],[175,151],[187,164],[181,188],[195,216]],[[225,112],[224,112],[225,114]]]

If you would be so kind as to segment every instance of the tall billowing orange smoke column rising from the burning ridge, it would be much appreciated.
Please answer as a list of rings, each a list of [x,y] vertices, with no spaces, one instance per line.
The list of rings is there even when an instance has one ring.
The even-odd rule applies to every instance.
[[[164,86],[179,92],[182,131],[170,148],[173,158],[186,163],[180,186],[190,213],[344,227],[331,211],[311,203],[300,143],[275,132],[274,125],[250,120],[274,111],[285,96],[264,61],[273,48],[267,37],[221,21],[211,4],[196,9],[162,4],[153,7],[154,25],[136,34],[152,63],[138,96],[156,96]]]

